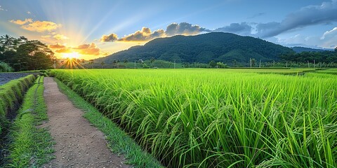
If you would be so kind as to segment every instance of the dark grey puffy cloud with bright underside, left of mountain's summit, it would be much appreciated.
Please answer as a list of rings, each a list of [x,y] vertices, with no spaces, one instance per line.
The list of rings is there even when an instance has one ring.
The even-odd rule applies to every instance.
[[[184,35],[194,35],[199,34],[205,29],[199,27],[198,25],[191,25],[187,22],[181,23],[172,23],[171,25],[166,27],[166,36],[174,36],[177,34],[184,34]]]

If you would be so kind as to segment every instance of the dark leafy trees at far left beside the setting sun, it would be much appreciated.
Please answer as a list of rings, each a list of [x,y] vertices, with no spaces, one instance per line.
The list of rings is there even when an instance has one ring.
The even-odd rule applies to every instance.
[[[0,61],[9,64],[15,71],[50,69],[55,60],[54,52],[41,41],[29,41],[25,36],[0,37]]]

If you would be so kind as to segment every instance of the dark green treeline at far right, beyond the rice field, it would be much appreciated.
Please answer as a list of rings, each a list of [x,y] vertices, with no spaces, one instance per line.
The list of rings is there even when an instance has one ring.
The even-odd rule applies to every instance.
[[[337,48],[334,51],[322,52],[289,52],[280,56],[282,62],[302,62],[302,63],[337,63]]]

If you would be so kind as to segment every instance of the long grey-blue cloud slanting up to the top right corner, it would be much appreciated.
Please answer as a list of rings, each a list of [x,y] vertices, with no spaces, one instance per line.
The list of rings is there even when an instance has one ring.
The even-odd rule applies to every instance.
[[[292,29],[336,22],[336,13],[337,1],[325,1],[320,6],[306,6],[294,13],[290,13],[282,22],[261,23],[256,28],[258,36],[277,36]]]

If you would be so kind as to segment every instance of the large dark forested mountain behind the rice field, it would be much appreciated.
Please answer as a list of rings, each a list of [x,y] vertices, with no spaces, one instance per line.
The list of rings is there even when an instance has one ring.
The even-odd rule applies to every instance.
[[[111,63],[119,60],[133,62],[138,59],[161,59],[171,62],[238,62],[248,64],[250,58],[270,62],[279,55],[293,52],[290,48],[270,43],[260,38],[213,32],[196,36],[156,38],[143,46],[116,52],[98,61]]]

